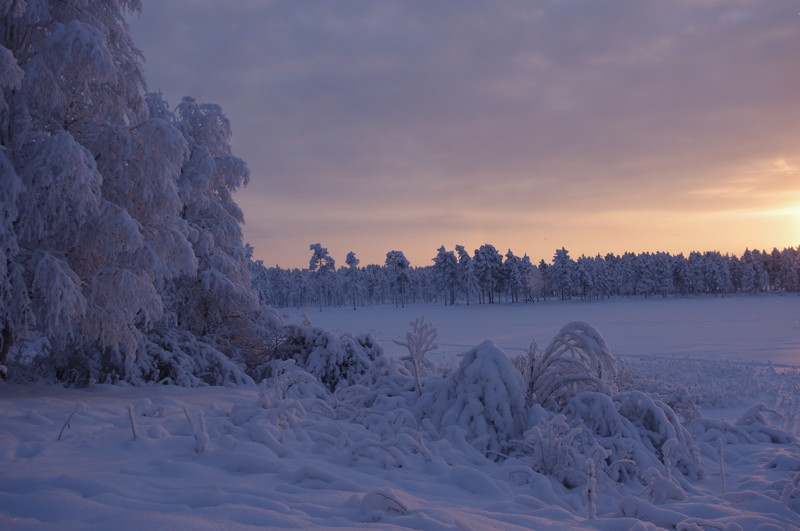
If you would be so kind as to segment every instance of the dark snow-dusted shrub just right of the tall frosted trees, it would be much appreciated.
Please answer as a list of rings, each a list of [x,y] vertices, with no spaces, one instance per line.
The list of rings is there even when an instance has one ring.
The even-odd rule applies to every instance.
[[[289,325],[286,340],[277,349],[278,359],[293,359],[330,391],[355,383],[383,351],[369,335],[337,337],[328,330]]]

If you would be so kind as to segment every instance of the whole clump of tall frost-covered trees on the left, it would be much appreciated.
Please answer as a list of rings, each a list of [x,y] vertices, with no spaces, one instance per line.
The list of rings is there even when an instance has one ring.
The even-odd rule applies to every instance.
[[[170,381],[241,380],[271,321],[231,198],[247,167],[230,126],[215,105],[186,98],[174,115],[144,95],[125,22],[140,8],[0,5],[0,364],[12,379],[141,383],[163,379],[145,367],[165,362],[182,367]],[[161,349],[165,334],[174,348]],[[40,337],[52,348],[36,375],[23,343]]]

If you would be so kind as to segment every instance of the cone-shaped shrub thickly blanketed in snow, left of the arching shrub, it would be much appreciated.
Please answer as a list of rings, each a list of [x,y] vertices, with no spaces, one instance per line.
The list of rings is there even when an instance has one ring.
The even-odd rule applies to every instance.
[[[458,426],[484,454],[502,452],[522,436],[526,424],[525,383],[511,360],[487,340],[464,354],[448,378],[430,382],[417,411],[433,426]]]

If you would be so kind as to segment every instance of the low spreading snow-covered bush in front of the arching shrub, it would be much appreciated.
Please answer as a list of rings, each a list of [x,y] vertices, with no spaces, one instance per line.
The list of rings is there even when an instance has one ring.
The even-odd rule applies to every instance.
[[[694,480],[702,469],[691,437],[676,420],[642,397],[584,391],[560,412],[534,405],[531,428],[512,454],[569,488],[611,481],[644,488],[651,500],[681,498],[682,476],[673,470]]]

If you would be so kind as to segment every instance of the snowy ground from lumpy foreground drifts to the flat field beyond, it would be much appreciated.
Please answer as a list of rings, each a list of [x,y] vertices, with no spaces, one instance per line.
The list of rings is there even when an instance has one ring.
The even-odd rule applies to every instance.
[[[621,403],[667,400],[683,386],[689,398],[672,400],[686,429],[647,454],[653,434],[631,427],[647,431],[646,419],[620,424],[631,439],[597,428],[592,455],[611,460],[634,439],[641,455],[595,474],[574,455],[578,428],[553,436],[565,418],[541,408],[528,422],[539,423],[540,439],[553,430],[551,446],[487,459],[463,430],[436,435],[415,424],[399,397],[381,407],[356,391],[291,397],[280,382],[0,384],[0,529],[800,529],[796,295],[306,314],[337,333],[371,332],[394,357],[405,350],[392,340],[425,315],[440,344],[429,358],[451,369],[485,339],[514,357],[532,338],[545,348],[562,325],[587,321],[620,360]],[[682,465],[684,446],[692,455]],[[570,467],[583,483],[565,479]]]

